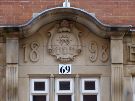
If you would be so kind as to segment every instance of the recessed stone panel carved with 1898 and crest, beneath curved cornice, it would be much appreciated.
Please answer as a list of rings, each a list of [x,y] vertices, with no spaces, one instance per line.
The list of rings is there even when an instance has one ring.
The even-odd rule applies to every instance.
[[[19,60],[21,65],[108,65],[109,44],[82,24],[62,19],[21,38]]]

